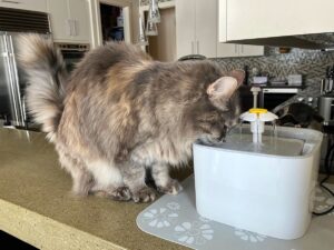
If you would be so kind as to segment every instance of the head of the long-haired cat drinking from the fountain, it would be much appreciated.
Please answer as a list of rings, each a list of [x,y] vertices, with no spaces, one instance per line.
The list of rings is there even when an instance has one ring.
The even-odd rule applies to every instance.
[[[195,118],[199,136],[220,140],[229,128],[238,123],[240,104],[237,89],[244,78],[244,71],[233,70],[206,87],[205,101],[197,104]]]

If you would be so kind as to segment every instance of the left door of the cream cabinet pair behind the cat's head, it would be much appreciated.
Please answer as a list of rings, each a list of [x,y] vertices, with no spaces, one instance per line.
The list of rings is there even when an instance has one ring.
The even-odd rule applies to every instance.
[[[177,59],[195,51],[195,1],[176,0],[176,54]]]

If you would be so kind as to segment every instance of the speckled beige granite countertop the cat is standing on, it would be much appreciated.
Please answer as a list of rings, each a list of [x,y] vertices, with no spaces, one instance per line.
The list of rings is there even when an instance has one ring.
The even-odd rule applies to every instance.
[[[148,204],[70,196],[43,133],[0,129],[0,230],[39,249],[186,249],[137,228]]]

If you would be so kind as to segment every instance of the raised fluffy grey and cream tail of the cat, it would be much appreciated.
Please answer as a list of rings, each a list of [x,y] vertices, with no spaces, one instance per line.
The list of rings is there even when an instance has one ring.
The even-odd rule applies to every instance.
[[[52,141],[63,110],[67,80],[63,58],[50,39],[38,34],[21,36],[18,48],[19,62],[28,77],[28,111]]]

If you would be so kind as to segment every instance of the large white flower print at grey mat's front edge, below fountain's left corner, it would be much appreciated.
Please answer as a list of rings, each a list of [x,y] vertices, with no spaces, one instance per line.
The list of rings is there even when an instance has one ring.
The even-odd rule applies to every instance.
[[[183,222],[175,227],[175,237],[179,242],[188,244],[205,244],[214,238],[214,230],[208,223],[200,221]]]

